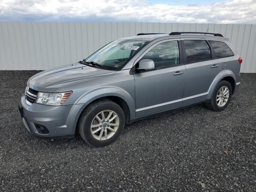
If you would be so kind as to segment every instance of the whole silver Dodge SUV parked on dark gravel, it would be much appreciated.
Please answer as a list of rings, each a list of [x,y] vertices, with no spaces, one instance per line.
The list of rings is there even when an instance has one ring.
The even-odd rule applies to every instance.
[[[224,110],[241,63],[221,34],[138,34],[32,76],[20,114],[35,136],[73,137],[78,129],[88,144],[106,146],[138,118],[202,102]]]

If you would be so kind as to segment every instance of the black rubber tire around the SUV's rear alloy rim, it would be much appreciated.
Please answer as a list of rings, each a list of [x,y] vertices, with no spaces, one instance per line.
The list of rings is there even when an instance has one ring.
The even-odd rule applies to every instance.
[[[221,91],[219,92],[219,90],[220,90],[220,88],[223,88],[223,87],[228,88],[229,93],[228,93],[228,96],[226,94],[226,97],[228,97],[228,98],[224,98],[224,95],[222,94],[224,100],[222,100],[222,103],[220,103],[221,102],[220,100],[222,99],[222,97],[218,97],[218,98],[220,98],[220,100],[217,101],[217,94],[218,94],[218,96],[221,94]],[[232,96],[232,86],[228,81],[223,80],[223,81],[219,82],[218,85],[215,87],[214,92],[212,94],[212,98],[207,103],[207,106],[210,110],[222,111],[228,106],[231,96]],[[226,103],[224,103],[224,101]],[[222,104],[223,104],[223,106],[222,106]]]

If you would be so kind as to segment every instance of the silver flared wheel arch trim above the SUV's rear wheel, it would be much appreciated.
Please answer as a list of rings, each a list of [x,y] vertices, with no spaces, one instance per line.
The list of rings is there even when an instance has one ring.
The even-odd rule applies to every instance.
[[[221,71],[212,81],[212,84],[210,85],[210,88],[208,90],[208,96],[207,99],[211,99],[212,98],[212,94],[214,92],[215,87],[217,86],[217,84],[225,77],[232,77],[235,82],[236,82],[236,76],[235,74],[231,71],[231,70],[223,70]],[[236,86],[236,83],[235,83]]]

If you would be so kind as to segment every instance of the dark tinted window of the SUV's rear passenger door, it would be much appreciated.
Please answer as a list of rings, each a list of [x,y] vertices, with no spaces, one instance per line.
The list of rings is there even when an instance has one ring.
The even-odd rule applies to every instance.
[[[200,62],[212,58],[208,43],[204,40],[184,40],[187,63]]]

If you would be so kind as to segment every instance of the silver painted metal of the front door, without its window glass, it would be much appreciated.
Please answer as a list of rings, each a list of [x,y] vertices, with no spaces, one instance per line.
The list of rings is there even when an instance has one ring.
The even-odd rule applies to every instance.
[[[167,42],[177,41],[179,38],[164,39],[146,47],[144,52],[135,60],[137,63],[154,46]],[[182,106],[182,94],[185,82],[185,66],[175,66],[160,70],[134,74],[136,117],[154,114]],[[173,75],[176,71],[184,72]],[[175,91],[174,91],[175,90]],[[174,94],[175,92],[175,94]]]

